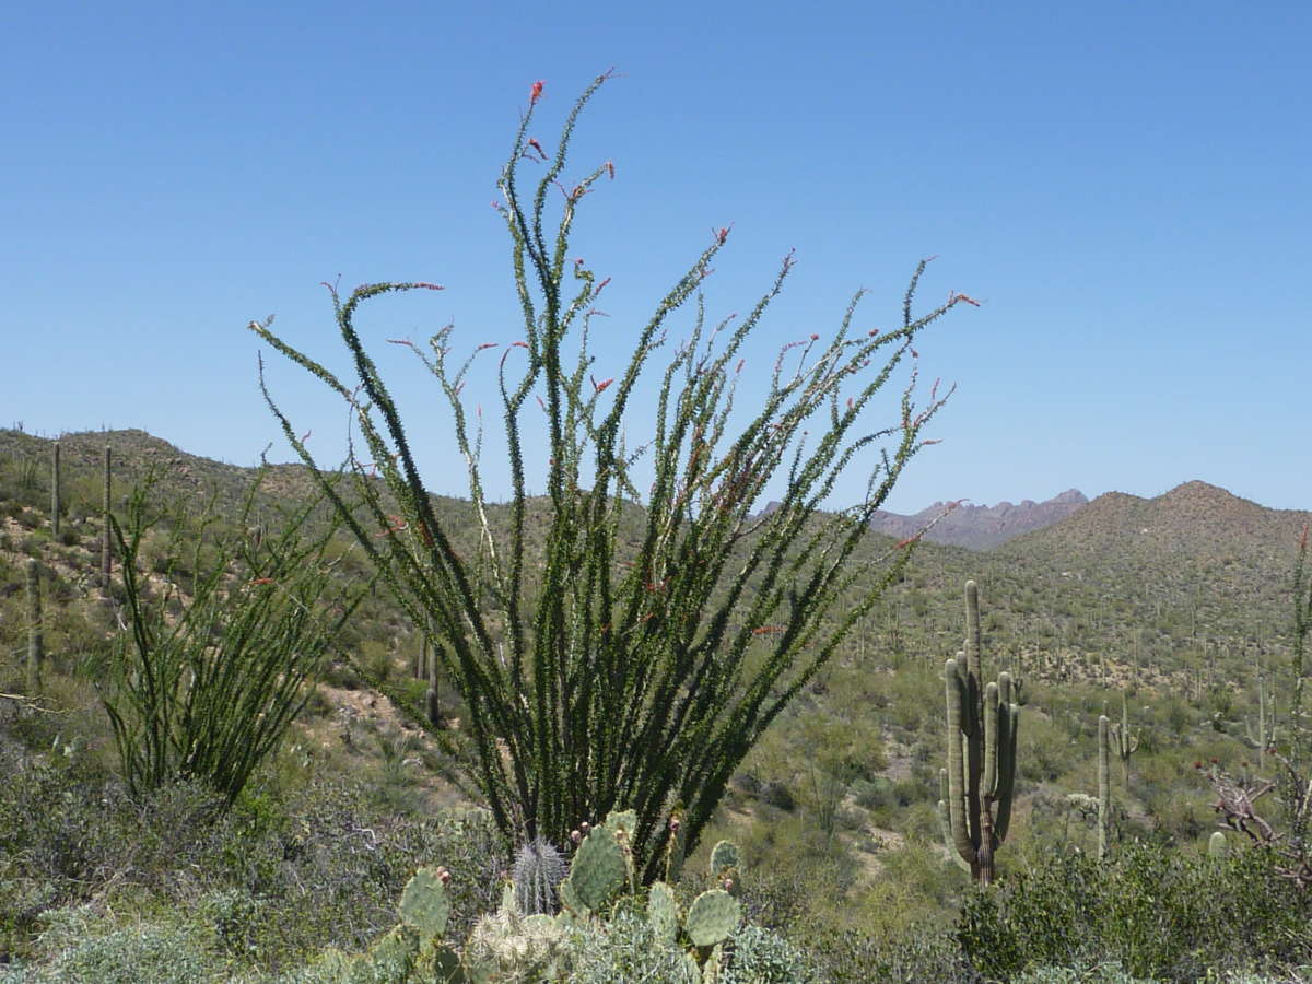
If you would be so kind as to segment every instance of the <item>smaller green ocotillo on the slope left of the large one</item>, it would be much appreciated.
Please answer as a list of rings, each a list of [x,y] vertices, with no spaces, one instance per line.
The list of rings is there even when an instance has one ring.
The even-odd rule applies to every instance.
[[[108,516],[122,559],[123,630],[101,703],[134,795],[198,779],[235,800],[300,712],[359,601],[358,588],[332,575],[332,527],[303,533],[315,504],[279,531],[249,534],[257,488],[228,530],[213,513],[154,510],[151,482],[133,491],[123,525]],[[157,579],[142,556],[152,533]]]

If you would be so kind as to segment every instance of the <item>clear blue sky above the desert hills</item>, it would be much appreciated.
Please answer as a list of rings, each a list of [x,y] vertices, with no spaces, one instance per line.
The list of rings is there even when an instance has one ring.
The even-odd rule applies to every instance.
[[[252,463],[278,434],[244,325],[341,366],[338,274],[446,286],[377,302],[371,338],[522,337],[497,174],[534,80],[546,142],[614,66],[573,154],[617,168],[577,247],[614,278],[600,356],[712,227],[715,314],[798,251],[761,366],[858,287],[893,325],[938,255],[925,304],[985,303],[918,346],[958,390],[891,508],[1189,479],[1312,508],[1309,35],[1312,4],[1266,0],[16,5],[0,424]],[[458,492],[438,399],[383,354]],[[336,403],[276,356],[270,382],[333,458]]]

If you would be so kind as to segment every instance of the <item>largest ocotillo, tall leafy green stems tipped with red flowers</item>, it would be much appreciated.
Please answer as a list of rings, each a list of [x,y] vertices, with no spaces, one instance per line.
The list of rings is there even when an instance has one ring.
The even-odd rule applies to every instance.
[[[698,291],[728,239],[722,228],[636,332],[627,365],[598,379],[588,331],[609,278],[571,260],[568,244],[584,197],[614,168],[604,164],[573,185],[562,184],[562,173],[579,113],[607,77],[575,104],[554,155],[530,136],[542,93],[535,84],[501,173],[500,211],[523,316],[523,336],[502,352],[497,371],[510,464],[504,529],[488,518],[482,424],[471,428],[462,399],[475,357],[493,346],[478,346],[459,365],[451,362],[450,328],[433,336],[428,352],[411,346],[450,407],[480,526],[476,556],[453,547],[453,530],[434,512],[396,404],[356,327],[361,303],[373,297],[438,287],[371,283],[345,298],[333,290],[358,390],[281,341],[268,323],[251,327],[354,412],[373,459],[353,467],[367,518],[338,501],[342,518],[411,618],[432,623],[442,638],[438,652],[464,702],[476,752],[475,778],[502,834],[559,844],[581,821],[631,807],[632,846],[649,880],[669,812],[681,810],[691,848],[762,731],[896,577],[907,550],[878,559],[867,552],[854,563],[857,551],[874,512],[925,443],[921,430],[942,399],[930,395],[928,405],[916,407],[908,384],[895,424],[863,430],[863,415],[895,367],[914,357],[916,335],[954,304],[975,302],[954,294],[913,316],[922,262],[900,328],[855,331],[858,294],[832,340],[807,333],[785,346],[761,404],[740,413],[735,388],[744,344],[792,258],[745,318],[707,327]],[[520,177],[529,165],[544,173],[525,198]],[[560,213],[548,220],[556,193]],[[625,432],[636,430],[630,411],[639,380],[665,342],[670,315],[694,297],[691,337],[659,377],[649,440],[630,445]],[[314,468],[272,399],[270,407]],[[531,430],[537,421],[541,437]],[[874,467],[865,499],[821,513],[838,475],[882,438],[892,438],[892,449]],[[547,533],[535,548],[526,535],[525,449],[539,440],[550,455]],[[373,480],[374,468],[382,483]],[[762,510],[766,483],[781,471],[782,501]],[[328,476],[316,474],[333,496]],[[649,487],[646,495],[640,484]],[[622,521],[635,514],[638,533],[621,537]],[[834,611],[840,598],[849,604]]]

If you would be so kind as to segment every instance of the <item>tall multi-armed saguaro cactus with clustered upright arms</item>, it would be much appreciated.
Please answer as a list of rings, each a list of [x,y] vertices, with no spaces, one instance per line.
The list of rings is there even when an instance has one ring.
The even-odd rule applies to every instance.
[[[1015,733],[1021,708],[1012,703],[1012,677],[980,687],[980,604],[975,581],[966,583],[966,649],[943,666],[947,686],[946,796],[939,820],[949,851],[956,851],[971,878],[993,880],[993,855],[1006,838],[1015,785]]]

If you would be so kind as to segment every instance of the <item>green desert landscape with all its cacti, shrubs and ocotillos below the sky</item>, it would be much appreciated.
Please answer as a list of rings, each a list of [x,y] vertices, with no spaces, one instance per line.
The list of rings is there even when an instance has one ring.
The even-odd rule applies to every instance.
[[[918,312],[924,264],[744,407],[790,262],[715,321],[718,230],[602,371],[569,241],[613,172],[565,174],[605,81],[550,148],[535,84],[502,171],[522,337],[404,341],[467,497],[361,327],[432,283],[333,289],[350,380],[252,325],[346,403],[342,463],[272,373],[300,464],[0,432],[0,980],[1308,972],[1309,517],[1189,483],[988,551],[871,533],[943,399],[913,341],[974,303]]]

